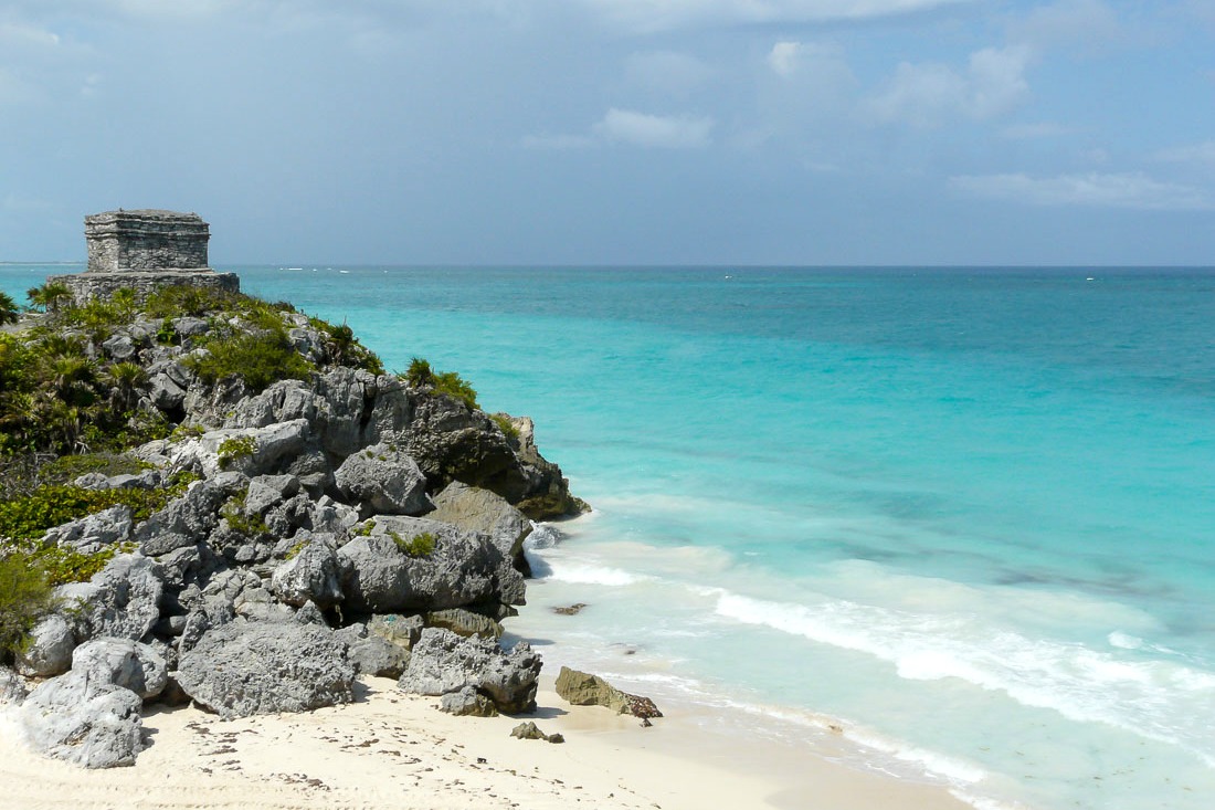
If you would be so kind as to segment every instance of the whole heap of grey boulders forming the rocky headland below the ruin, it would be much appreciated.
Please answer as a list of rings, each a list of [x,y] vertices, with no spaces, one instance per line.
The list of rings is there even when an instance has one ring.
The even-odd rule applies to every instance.
[[[89,356],[141,365],[134,410],[177,426],[130,451],[151,468],[77,485],[197,480],[147,519],[115,506],[46,533],[46,545],[114,556],[56,590],[16,662],[51,679],[28,715],[41,750],[129,764],[142,701],[299,711],[351,699],[356,673],[460,714],[535,704],[539,657],[502,651],[498,620],[524,603],[530,518],[582,505],[536,451],[531,421],[335,365],[333,327],[256,313],[141,314],[94,343],[73,336]],[[239,375],[202,378],[213,338],[271,317],[317,369],[309,379],[254,393]],[[0,679],[5,693],[21,686]]]

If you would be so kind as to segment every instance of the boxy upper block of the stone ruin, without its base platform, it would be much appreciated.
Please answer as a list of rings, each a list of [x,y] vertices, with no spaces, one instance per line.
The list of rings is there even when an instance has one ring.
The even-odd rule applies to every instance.
[[[84,219],[89,272],[207,268],[210,226],[198,214],[109,210]]]

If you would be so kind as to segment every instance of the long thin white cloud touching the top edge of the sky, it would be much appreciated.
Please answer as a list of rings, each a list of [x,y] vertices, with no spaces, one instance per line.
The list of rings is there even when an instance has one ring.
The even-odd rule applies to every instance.
[[[897,17],[977,0],[581,0],[638,32],[696,26],[846,22]]]

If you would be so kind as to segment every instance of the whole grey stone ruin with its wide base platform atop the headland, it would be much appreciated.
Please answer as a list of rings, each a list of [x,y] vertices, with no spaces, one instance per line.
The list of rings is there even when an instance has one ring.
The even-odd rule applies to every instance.
[[[89,266],[51,276],[67,285],[77,304],[131,288],[143,298],[157,287],[190,285],[239,292],[234,272],[207,266],[210,226],[198,214],[173,210],[108,210],[84,218]]]

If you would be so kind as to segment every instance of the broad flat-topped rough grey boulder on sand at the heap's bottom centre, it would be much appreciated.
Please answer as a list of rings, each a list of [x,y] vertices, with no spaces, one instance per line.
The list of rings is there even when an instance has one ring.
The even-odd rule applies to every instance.
[[[347,703],[354,677],[332,631],[262,623],[208,630],[175,674],[186,694],[224,718]]]

